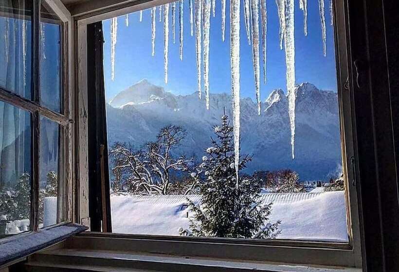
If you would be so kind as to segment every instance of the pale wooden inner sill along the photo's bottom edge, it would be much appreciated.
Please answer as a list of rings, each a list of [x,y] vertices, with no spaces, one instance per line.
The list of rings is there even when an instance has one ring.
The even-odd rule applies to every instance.
[[[226,260],[209,257],[148,254],[128,251],[54,249],[37,253],[27,267],[91,271],[201,272],[361,272],[361,269],[290,263]]]

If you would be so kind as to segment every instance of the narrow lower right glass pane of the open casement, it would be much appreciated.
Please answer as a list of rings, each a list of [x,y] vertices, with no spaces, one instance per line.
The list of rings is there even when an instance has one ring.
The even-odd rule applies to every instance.
[[[59,209],[59,125],[40,118],[39,227],[57,223]]]

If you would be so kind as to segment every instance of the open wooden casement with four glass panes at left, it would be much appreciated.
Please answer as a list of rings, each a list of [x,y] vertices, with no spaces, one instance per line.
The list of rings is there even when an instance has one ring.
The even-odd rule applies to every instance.
[[[0,237],[71,221],[67,23],[0,1]]]

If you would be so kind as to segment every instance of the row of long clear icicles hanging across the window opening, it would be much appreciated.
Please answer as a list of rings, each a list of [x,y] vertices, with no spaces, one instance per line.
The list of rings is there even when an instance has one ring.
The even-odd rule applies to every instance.
[[[254,83],[258,115],[261,114],[260,100],[260,53],[259,44],[262,44],[262,65],[263,80],[266,84],[266,51],[267,51],[267,3],[266,0],[242,0],[245,28],[248,44],[252,44],[253,64],[254,64]],[[289,100],[289,117],[291,131],[291,154],[295,158],[295,40],[294,40],[294,1],[295,0],[275,0],[280,22],[279,36],[280,49],[284,49],[286,55],[286,80]],[[318,0],[320,22],[322,28],[323,54],[326,56],[326,19],[325,19],[325,0]],[[201,99],[201,74],[203,74],[203,84],[205,92],[206,108],[209,109],[209,35],[210,17],[216,15],[216,0],[188,0],[190,34],[196,38],[196,62],[197,62],[197,83],[198,95]],[[175,24],[176,10],[179,4],[179,25],[180,25],[180,59],[183,59],[183,4],[184,0],[167,3],[158,6],[159,21],[163,17],[163,42],[164,42],[164,81],[168,82],[168,47],[169,47],[169,9],[172,13],[172,39],[175,43]],[[233,103],[233,123],[234,123],[234,143],[235,143],[235,169],[236,181],[238,186],[238,165],[239,165],[239,137],[240,137],[240,5],[241,0],[230,0],[230,66],[231,66],[231,91]],[[299,0],[299,7],[304,16],[304,34],[308,35],[308,0]],[[152,56],[155,54],[155,31],[157,7],[151,10],[151,41]],[[330,0],[331,25],[333,24],[332,0]],[[143,20],[143,11],[140,11],[140,22]],[[126,26],[129,25],[129,17],[125,18]],[[259,24],[261,34],[259,33]],[[221,39],[225,40],[226,26],[226,0],[221,0]],[[117,19],[111,19],[111,79],[115,78],[115,45],[117,33]],[[201,55],[202,54],[202,55]],[[203,72],[201,72],[203,61]]]

